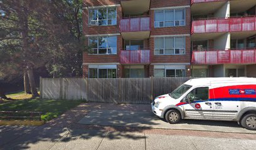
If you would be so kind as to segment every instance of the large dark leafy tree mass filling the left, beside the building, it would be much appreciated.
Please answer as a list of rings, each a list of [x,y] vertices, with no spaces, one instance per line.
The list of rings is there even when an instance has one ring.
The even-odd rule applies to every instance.
[[[36,68],[46,66],[54,78],[82,76],[82,0],[4,0],[0,6],[0,71],[13,70],[3,74],[22,74],[33,97]]]

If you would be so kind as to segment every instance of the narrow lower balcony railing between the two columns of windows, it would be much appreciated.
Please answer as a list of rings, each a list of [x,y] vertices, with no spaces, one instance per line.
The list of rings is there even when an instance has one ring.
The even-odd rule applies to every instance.
[[[150,50],[121,50],[121,64],[149,64]]]

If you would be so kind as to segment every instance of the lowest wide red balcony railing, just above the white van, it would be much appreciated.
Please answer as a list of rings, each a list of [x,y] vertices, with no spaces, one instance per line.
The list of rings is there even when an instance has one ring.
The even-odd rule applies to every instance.
[[[255,64],[256,49],[193,51],[192,64]]]

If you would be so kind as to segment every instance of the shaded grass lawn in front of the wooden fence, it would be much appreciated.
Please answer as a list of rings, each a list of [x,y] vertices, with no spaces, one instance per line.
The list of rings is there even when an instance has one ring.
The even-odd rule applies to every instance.
[[[43,113],[41,119],[50,121],[81,103],[83,101],[25,99],[0,104],[0,111],[40,111]]]

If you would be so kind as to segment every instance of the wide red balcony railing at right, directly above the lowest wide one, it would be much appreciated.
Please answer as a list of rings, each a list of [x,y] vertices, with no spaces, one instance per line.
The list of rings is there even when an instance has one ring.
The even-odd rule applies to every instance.
[[[256,16],[201,19],[192,21],[191,34],[208,32],[255,31]]]

